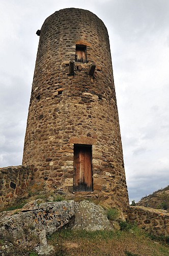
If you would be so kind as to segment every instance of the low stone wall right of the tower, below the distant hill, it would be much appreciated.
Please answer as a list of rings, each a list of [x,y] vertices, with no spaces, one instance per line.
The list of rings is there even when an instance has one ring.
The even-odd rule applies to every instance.
[[[155,236],[169,236],[169,213],[144,206],[128,206],[128,219]]]

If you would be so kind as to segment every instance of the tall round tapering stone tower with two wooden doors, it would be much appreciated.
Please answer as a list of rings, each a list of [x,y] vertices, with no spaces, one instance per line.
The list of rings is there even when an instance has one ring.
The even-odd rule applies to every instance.
[[[90,11],[70,8],[37,32],[22,164],[33,164],[49,189],[128,204],[106,27]]]

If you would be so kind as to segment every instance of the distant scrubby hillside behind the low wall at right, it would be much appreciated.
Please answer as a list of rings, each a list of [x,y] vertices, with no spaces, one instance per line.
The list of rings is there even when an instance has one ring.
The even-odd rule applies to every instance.
[[[155,209],[164,209],[169,212],[169,185],[155,191],[153,194],[143,197],[136,205],[143,205]]]

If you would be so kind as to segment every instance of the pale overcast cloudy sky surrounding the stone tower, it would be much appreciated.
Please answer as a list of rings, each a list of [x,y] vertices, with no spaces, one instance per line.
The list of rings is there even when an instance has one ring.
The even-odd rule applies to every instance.
[[[63,8],[95,13],[107,27],[130,201],[169,185],[169,1],[1,0],[0,167],[22,161],[39,37]]]

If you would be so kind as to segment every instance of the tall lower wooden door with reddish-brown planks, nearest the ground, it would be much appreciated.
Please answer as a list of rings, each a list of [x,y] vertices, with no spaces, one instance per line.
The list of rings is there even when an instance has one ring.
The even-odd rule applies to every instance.
[[[92,147],[74,145],[73,191],[92,191]]]

